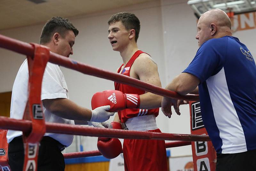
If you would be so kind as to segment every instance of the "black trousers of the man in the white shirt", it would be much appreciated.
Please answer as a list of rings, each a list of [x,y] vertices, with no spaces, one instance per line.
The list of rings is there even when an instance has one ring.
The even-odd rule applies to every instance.
[[[22,171],[24,163],[24,147],[22,137],[15,137],[8,147],[9,165],[12,171]],[[44,136],[40,142],[37,171],[64,171],[64,157],[60,151],[60,143]]]

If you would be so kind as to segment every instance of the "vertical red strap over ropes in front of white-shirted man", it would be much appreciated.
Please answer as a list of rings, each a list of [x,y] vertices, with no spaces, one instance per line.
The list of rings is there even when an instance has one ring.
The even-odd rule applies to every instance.
[[[29,72],[28,101],[23,119],[31,120],[32,128],[29,132],[23,131],[23,171],[37,171],[39,144],[46,132],[44,113],[41,103],[41,87],[44,70],[50,58],[50,51],[45,46],[36,43],[30,44],[34,46],[34,56],[27,56]]]

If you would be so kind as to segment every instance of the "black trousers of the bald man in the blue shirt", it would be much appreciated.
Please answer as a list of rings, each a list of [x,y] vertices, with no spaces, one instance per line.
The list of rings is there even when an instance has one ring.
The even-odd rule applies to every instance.
[[[215,171],[256,171],[256,150],[217,154]]]

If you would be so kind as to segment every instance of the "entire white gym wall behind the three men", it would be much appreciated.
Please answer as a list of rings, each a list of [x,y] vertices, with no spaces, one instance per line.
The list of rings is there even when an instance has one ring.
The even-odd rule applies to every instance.
[[[162,86],[165,87],[176,75],[182,72],[194,58],[197,47],[196,17],[186,0],[162,0],[134,5],[111,11],[104,11],[76,18],[70,18],[78,28],[79,35],[74,45],[74,55],[70,58],[115,72],[122,63],[120,54],[113,51],[108,41],[108,19],[121,11],[133,12],[140,19],[141,31],[138,39],[139,48],[148,52],[157,62]],[[0,30],[6,35],[24,42],[38,43],[44,23]],[[256,56],[255,29],[238,31],[239,37]],[[25,56],[0,49],[0,92],[11,91],[17,71]],[[91,97],[97,91],[114,89],[112,81],[84,75],[61,67],[69,89],[69,97],[78,105],[90,108]],[[181,115],[172,115],[171,119],[162,112],[157,117],[157,124],[162,132],[190,134],[189,107],[183,105]],[[110,119],[110,121],[113,118]],[[96,137],[82,137],[84,150],[96,150]],[[76,151],[73,143],[66,152]],[[191,146],[172,148],[172,156],[190,155]]]

